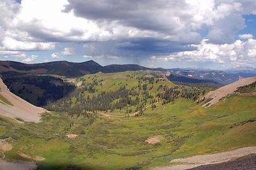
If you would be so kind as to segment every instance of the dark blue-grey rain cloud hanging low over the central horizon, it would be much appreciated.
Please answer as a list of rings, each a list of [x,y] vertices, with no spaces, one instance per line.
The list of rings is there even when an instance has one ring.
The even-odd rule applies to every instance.
[[[172,52],[195,50],[186,43],[156,40],[153,38],[133,40],[110,40],[84,44],[85,54],[90,56],[112,55],[138,62],[150,60],[152,55],[168,55]],[[136,63],[134,62],[134,63]]]

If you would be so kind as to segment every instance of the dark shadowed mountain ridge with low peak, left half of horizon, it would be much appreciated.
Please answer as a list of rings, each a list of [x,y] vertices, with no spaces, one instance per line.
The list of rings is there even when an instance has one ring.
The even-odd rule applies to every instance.
[[[56,74],[59,76],[76,77],[96,72],[120,72],[148,70],[137,64],[112,64],[102,66],[93,60],[86,62],[55,61],[40,64],[24,64],[13,61],[0,61],[0,72],[19,72],[25,74]]]

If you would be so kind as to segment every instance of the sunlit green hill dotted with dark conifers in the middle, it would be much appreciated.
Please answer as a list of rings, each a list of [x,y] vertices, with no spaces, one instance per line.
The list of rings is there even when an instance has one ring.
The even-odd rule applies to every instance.
[[[80,77],[77,82],[81,86],[45,108],[78,116],[98,111],[129,114],[143,111],[148,105],[154,109],[156,102],[162,105],[174,103],[179,97],[197,101],[206,93],[204,87],[176,86],[165,76],[147,71],[117,73],[115,76],[93,74]]]

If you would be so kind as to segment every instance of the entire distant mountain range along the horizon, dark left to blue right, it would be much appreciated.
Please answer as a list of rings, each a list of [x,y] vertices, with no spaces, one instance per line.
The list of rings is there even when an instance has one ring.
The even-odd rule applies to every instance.
[[[51,74],[65,77],[78,77],[85,74],[96,72],[123,72],[123,71],[165,71],[168,72],[168,78],[174,82],[192,83],[192,84],[229,84],[235,82],[240,77],[256,76],[256,69],[247,67],[238,67],[226,71],[216,71],[211,69],[163,69],[148,68],[137,64],[111,64],[100,65],[93,60],[86,62],[68,62],[55,61],[40,64],[24,64],[14,61],[0,61],[0,74],[3,76],[17,74]],[[6,77],[5,76],[5,77]]]

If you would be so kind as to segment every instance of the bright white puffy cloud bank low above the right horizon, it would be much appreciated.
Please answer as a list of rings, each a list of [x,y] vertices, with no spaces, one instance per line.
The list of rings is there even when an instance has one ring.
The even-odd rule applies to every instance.
[[[170,55],[154,55],[151,60],[208,61],[231,66],[256,65],[256,40],[254,39],[249,39],[246,42],[236,40],[234,43],[224,43],[222,45],[202,40],[201,44],[191,46],[196,47],[197,50],[177,52]]]

